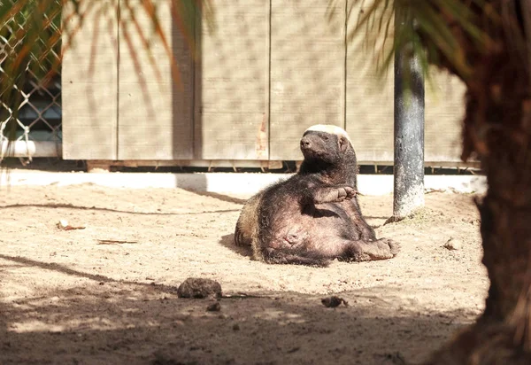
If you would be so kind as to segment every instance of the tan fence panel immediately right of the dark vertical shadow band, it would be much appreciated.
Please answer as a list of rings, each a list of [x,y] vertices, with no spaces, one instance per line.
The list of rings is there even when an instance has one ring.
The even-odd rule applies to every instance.
[[[196,27],[196,159],[267,159],[269,0],[214,5],[215,34]]]

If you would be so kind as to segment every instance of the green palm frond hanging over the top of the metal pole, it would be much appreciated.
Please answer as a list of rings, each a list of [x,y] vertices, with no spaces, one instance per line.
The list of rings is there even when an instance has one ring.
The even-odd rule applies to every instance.
[[[330,0],[329,9],[334,9],[336,1]],[[373,71],[379,79],[388,72],[396,50],[409,47],[428,81],[429,66],[441,63],[466,80],[471,65],[462,40],[466,38],[477,52],[489,50],[496,44],[481,27],[485,19],[478,14],[488,14],[490,22],[501,21],[496,12],[477,11],[489,5],[485,0],[363,0],[348,4],[347,21],[355,26],[350,28],[347,42],[352,46],[355,39],[362,38],[364,42],[357,44],[365,52],[374,50]]]

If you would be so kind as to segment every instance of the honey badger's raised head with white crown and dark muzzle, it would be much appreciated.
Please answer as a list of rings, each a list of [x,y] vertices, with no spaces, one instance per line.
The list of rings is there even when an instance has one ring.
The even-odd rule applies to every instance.
[[[316,124],[304,131],[301,151],[305,160],[335,164],[345,158],[354,158],[354,148],[347,132],[331,124]]]

